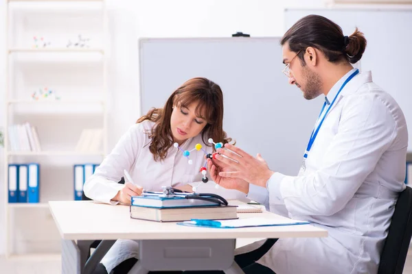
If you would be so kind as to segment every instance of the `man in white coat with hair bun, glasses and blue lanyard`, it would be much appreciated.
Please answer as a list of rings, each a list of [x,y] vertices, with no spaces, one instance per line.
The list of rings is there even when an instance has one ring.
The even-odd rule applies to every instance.
[[[404,114],[372,82],[371,72],[352,67],[366,47],[358,29],[348,37],[327,18],[306,16],[286,32],[282,46],[290,84],[308,100],[325,96],[299,174],[272,171],[260,155],[254,158],[231,145],[225,147],[238,155],[218,152],[236,162],[218,156],[209,160],[209,170],[220,186],[247,193],[271,212],[327,229],[328,237],[280,238],[244,271],[376,273],[396,200],[405,188]]]

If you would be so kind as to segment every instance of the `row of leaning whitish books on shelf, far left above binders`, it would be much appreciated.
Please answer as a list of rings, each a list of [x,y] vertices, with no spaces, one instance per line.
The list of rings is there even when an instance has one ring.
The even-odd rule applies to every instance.
[[[37,129],[28,122],[10,125],[8,137],[12,151],[41,151]]]

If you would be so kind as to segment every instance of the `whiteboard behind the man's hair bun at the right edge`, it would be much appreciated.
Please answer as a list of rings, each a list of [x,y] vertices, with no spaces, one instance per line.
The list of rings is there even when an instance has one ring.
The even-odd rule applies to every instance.
[[[308,14],[329,18],[344,35],[355,27],[365,34],[361,71],[371,71],[374,82],[396,99],[412,129],[412,10],[290,9],[285,11],[285,32]],[[412,138],[408,145],[412,151]]]

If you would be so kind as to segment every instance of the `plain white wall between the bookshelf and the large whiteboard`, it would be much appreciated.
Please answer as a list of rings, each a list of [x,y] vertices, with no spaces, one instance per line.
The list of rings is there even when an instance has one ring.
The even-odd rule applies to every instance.
[[[0,1],[4,18],[5,1]],[[111,149],[139,117],[139,38],[228,37],[235,32],[251,36],[282,36],[284,8],[319,8],[323,0],[106,0],[110,28],[108,88]],[[0,110],[5,81],[5,22],[0,21]],[[3,114],[3,113],[2,113]],[[4,117],[0,114],[0,126]],[[1,161],[3,156],[1,156]],[[3,200],[3,167],[0,200]],[[0,203],[0,253],[4,249],[3,202]]]

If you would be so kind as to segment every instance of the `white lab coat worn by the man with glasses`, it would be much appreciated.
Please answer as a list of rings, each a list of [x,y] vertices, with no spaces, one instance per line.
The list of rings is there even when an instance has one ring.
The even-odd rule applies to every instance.
[[[353,72],[336,83],[327,101]],[[326,116],[306,171],[274,173],[266,189],[251,186],[248,195],[272,212],[327,229],[329,236],[281,238],[258,263],[277,274],[376,273],[405,188],[407,144],[407,124],[396,101],[372,82],[370,72],[356,75]]]

